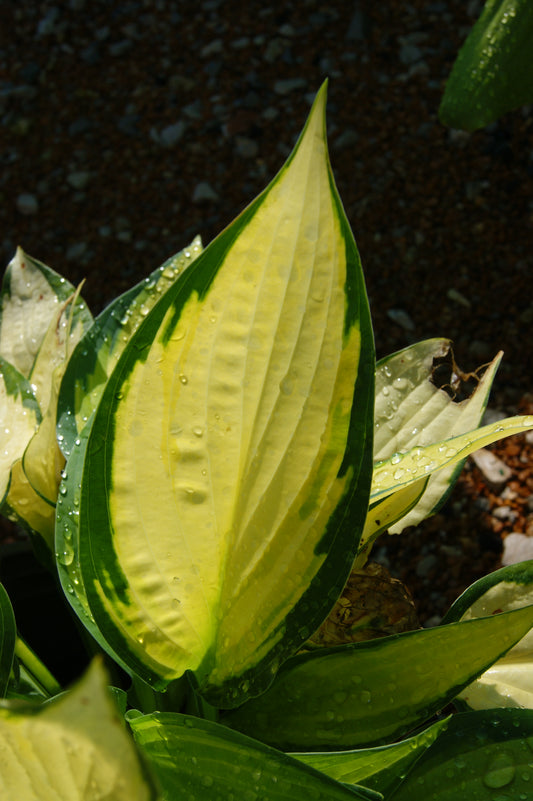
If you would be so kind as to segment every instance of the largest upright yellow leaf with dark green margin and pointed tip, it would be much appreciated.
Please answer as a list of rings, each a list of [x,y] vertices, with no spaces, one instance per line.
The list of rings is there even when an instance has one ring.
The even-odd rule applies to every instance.
[[[375,370],[325,90],[272,184],[146,316],[95,412],[79,564],[157,686],[260,692],[340,593],[368,503]]]

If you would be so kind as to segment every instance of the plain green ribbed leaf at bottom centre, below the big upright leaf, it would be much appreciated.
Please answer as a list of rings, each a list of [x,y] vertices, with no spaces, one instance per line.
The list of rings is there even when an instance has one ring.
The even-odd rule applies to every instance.
[[[162,801],[178,798],[308,801],[366,798],[290,756],[207,720],[130,713],[133,736],[159,780]]]

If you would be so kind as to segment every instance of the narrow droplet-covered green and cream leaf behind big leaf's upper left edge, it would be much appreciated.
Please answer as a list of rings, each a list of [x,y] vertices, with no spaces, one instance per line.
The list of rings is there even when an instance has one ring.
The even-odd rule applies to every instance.
[[[152,306],[202,252],[200,237],[97,317],[69,359],[58,400],[57,439],[68,456],[98,405],[105,383]]]

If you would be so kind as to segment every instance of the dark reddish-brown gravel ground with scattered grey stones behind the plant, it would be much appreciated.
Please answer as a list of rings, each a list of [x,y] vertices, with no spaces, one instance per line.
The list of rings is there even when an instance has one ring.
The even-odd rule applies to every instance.
[[[515,413],[532,389],[533,114],[472,135],[437,120],[481,5],[0,4],[4,263],[20,244],[73,283],[86,277],[100,310],[264,188],[328,77],[331,161],[378,355],[444,335],[473,370],[503,349],[493,405]],[[502,536],[526,533],[531,445],[509,447],[503,458],[525,460],[509,479],[523,503],[502,503],[471,465],[446,515],[381,549],[423,619],[498,566]],[[512,521],[494,517],[505,505],[519,507]]]

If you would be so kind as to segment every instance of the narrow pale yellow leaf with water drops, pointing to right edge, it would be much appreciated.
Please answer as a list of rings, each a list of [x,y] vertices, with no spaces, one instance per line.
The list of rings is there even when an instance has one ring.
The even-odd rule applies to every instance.
[[[450,437],[433,445],[415,446],[406,453],[374,465],[371,501],[385,498],[400,487],[414,484],[423,476],[463,461],[469,454],[512,434],[533,428],[533,415],[508,417],[466,434]]]

